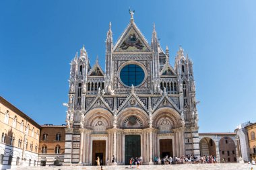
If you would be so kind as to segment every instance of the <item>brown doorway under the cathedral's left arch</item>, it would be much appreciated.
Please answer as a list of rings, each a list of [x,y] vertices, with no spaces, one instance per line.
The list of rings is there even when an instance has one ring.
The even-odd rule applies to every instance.
[[[97,157],[100,158],[100,165],[105,165],[106,140],[92,141],[92,165],[97,165]]]

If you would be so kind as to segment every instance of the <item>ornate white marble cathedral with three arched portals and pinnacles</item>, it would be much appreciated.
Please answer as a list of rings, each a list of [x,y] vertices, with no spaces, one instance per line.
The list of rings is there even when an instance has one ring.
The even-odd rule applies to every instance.
[[[106,34],[105,71],[83,47],[71,61],[64,164],[127,165],[131,157],[200,155],[193,63],[179,48],[174,66],[156,28],[151,44],[134,22],[116,44]]]

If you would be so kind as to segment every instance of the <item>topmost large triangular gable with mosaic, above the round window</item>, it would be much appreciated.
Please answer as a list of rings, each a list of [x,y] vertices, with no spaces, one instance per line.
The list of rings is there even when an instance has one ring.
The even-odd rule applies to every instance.
[[[135,23],[131,22],[114,47],[115,52],[150,52],[150,46]]]

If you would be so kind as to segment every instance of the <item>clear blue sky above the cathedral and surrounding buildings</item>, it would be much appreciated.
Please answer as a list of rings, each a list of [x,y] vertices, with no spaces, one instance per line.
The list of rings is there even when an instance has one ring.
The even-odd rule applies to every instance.
[[[183,46],[193,60],[199,132],[233,132],[256,121],[256,1],[0,1],[0,95],[38,124],[65,124],[69,63],[83,44],[104,69],[128,9],[148,42],[152,25],[170,63]]]

